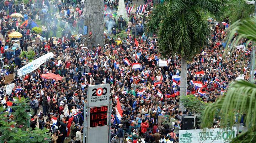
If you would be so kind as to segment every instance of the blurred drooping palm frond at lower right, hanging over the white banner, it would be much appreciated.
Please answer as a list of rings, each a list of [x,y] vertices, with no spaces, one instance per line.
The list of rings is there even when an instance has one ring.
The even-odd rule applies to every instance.
[[[247,138],[255,138],[256,131],[256,85],[246,81],[237,81],[230,85],[226,95],[217,102],[210,104],[203,114],[203,127],[209,127],[214,114],[220,110],[220,122],[224,128],[232,128],[235,124],[234,113],[244,115],[249,130]],[[240,119],[239,119],[240,121]],[[255,139],[254,139],[255,142]]]

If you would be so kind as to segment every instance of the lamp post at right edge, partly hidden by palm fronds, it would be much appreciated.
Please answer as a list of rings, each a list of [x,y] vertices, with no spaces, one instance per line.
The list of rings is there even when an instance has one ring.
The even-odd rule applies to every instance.
[[[246,3],[249,5],[250,4],[255,5],[254,16],[256,16],[256,2],[246,0]],[[251,84],[254,84],[254,69],[255,69],[255,46],[254,46],[254,41],[252,41],[251,64],[250,64],[250,74],[251,74],[250,82],[251,82]]]

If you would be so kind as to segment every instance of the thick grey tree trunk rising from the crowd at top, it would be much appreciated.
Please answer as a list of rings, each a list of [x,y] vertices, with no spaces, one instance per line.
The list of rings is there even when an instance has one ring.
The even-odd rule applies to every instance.
[[[101,46],[104,44],[103,42],[103,32],[104,32],[104,19],[103,19],[103,0],[86,0],[85,1],[85,22],[84,25],[87,26],[87,32],[92,32],[93,37],[93,45],[97,46],[100,44]],[[86,38],[88,40],[88,35]]]

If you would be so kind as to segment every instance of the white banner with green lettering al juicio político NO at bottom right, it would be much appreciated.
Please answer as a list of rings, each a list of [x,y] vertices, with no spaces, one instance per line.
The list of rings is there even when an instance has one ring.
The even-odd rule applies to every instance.
[[[236,137],[236,129],[223,130],[221,128],[208,128],[198,130],[180,130],[179,143],[226,143]]]

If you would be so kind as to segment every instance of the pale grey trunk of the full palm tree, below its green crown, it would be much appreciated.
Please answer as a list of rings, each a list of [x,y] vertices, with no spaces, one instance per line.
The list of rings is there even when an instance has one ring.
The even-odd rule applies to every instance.
[[[187,57],[181,58],[181,79],[180,79],[180,98],[187,95]],[[180,102],[180,110],[184,111],[184,105]]]

